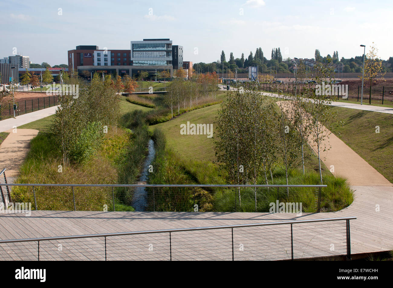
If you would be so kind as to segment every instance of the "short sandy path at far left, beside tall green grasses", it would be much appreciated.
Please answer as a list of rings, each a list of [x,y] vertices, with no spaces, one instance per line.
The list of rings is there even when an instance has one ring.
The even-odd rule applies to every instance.
[[[6,175],[16,176],[30,149],[30,141],[38,134],[35,129],[10,129],[0,145],[0,170],[7,168]]]

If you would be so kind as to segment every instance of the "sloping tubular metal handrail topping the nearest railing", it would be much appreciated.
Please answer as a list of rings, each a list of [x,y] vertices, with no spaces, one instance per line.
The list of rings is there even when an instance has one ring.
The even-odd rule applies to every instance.
[[[227,226],[210,226],[210,227],[163,229],[163,230],[134,231],[134,232],[122,232],[122,233],[105,233],[105,234],[91,234],[91,235],[75,235],[75,236],[61,236],[61,237],[40,237],[40,238],[0,240],[0,243],[31,242],[31,241],[44,241],[44,240],[62,240],[62,239],[77,239],[77,238],[94,238],[94,237],[110,237],[110,236],[124,236],[124,235],[136,235],[136,234],[151,234],[151,233],[169,233],[169,232],[181,232],[181,231],[212,230],[212,229],[230,229],[230,228],[240,228],[240,227],[299,224],[299,223],[354,220],[354,219],[356,219],[356,217],[325,218],[325,219],[312,219],[312,220],[294,220],[294,221],[267,222],[267,223],[255,223],[255,224],[238,224],[238,225],[227,225]]]

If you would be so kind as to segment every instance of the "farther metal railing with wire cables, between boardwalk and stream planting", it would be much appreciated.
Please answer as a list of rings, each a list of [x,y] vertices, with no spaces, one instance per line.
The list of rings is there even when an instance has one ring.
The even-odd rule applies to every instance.
[[[321,188],[327,187],[327,185],[2,183],[0,186],[15,187],[11,189],[13,200],[31,202],[35,210],[133,211],[135,209],[136,211],[178,212],[269,212],[271,203],[278,201],[278,203],[295,204],[299,202],[296,200],[302,198],[308,198],[307,212],[320,212]],[[215,197],[215,207],[212,195]]]

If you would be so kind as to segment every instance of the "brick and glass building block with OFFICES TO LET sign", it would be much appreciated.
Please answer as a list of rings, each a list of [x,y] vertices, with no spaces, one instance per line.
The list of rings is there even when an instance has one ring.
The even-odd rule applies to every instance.
[[[131,41],[130,50],[99,49],[98,46],[77,46],[67,53],[68,67],[82,75],[99,72],[136,77],[140,71],[154,79],[156,71],[183,67],[183,47],[172,45],[169,39],[143,39]],[[86,71],[83,73],[83,71]]]

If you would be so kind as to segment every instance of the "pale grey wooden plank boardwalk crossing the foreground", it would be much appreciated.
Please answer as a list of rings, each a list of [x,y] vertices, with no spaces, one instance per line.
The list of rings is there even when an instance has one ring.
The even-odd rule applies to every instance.
[[[351,253],[393,249],[393,187],[353,186],[355,200],[330,213],[178,213],[32,211],[0,216],[1,239],[55,237],[156,229],[225,226],[356,216]],[[376,205],[379,205],[379,211]],[[291,258],[290,226],[243,227],[233,231],[235,260]],[[344,255],[345,221],[294,225],[294,258]],[[231,230],[176,232],[172,260],[231,260]],[[168,233],[107,238],[108,260],[169,260]],[[37,242],[0,244],[2,260],[36,260]],[[40,260],[105,260],[105,239],[40,242]]]

